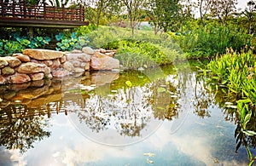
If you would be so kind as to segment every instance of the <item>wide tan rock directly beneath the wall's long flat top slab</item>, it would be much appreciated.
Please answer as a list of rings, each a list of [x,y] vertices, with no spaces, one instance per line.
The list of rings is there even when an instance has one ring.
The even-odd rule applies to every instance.
[[[34,62],[27,62],[21,64],[16,70],[20,73],[32,74],[37,72],[44,72],[48,66]]]

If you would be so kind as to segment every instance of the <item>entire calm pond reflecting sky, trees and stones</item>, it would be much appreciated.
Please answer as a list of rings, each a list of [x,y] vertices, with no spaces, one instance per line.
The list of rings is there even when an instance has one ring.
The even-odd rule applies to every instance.
[[[188,62],[2,86],[0,165],[247,165],[212,87]]]

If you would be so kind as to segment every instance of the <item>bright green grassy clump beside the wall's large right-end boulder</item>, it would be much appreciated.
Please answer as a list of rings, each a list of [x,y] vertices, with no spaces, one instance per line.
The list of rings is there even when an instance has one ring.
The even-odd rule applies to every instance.
[[[172,63],[177,52],[162,48],[159,44],[124,40],[120,42],[116,58],[128,68],[162,66]]]

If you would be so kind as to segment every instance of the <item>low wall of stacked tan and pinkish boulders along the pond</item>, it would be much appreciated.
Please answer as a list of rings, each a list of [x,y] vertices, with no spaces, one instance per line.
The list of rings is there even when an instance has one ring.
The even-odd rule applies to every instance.
[[[113,50],[90,47],[71,53],[25,49],[22,54],[0,57],[0,84],[27,83],[89,70],[118,69],[119,60],[113,58],[114,54]]]

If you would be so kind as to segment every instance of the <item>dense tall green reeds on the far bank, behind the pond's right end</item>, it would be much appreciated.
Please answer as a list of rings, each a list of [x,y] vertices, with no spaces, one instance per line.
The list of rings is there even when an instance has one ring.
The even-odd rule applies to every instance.
[[[181,48],[189,58],[209,57],[224,54],[227,48],[240,51],[246,45],[250,46],[253,37],[247,31],[236,25],[196,26],[188,24],[177,37]]]

